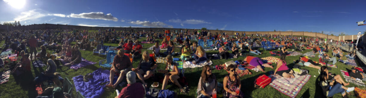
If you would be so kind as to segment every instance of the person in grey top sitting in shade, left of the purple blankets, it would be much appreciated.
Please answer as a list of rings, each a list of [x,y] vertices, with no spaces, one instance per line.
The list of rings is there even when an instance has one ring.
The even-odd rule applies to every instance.
[[[52,59],[47,60],[47,69],[45,72],[41,72],[40,75],[38,75],[36,78],[34,78],[34,82],[36,84],[41,83],[45,80],[51,80],[53,79],[54,73],[56,72],[56,64],[55,61]]]

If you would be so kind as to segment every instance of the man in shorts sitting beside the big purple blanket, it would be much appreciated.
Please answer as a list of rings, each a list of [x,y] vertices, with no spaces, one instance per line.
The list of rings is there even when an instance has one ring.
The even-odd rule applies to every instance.
[[[126,73],[132,68],[130,58],[124,55],[124,52],[124,50],[118,50],[117,55],[113,59],[112,68],[109,75],[109,84],[106,85],[107,87],[116,88],[117,85],[122,82],[123,76],[126,75]],[[113,84],[115,73],[119,73],[119,77],[117,82]]]

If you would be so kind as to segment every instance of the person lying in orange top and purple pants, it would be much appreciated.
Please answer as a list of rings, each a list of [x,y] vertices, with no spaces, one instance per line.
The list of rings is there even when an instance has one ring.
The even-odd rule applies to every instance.
[[[245,57],[245,59],[243,61],[247,61],[249,65],[257,67],[262,72],[265,72],[263,70],[262,66],[269,67],[269,68],[273,69],[272,65],[269,65],[267,63],[263,63],[262,60],[259,59],[258,57],[253,57],[253,56],[250,56],[249,54],[247,54],[247,57]]]

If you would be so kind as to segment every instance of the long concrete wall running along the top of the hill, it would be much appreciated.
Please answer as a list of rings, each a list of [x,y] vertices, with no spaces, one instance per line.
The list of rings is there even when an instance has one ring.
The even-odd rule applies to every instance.
[[[6,31],[6,30],[20,30],[20,29],[26,29],[26,30],[32,30],[32,29],[88,29],[88,30],[106,30],[106,29],[115,29],[117,31],[121,31],[121,30],[126,30],[126,31],[130,31],[131,29],[133,30],[138,30],[138,31],[163,31],[163,29],[169,29],[170,31],[175,31],[177,30],[178,32],[180,32],[180,30],[184,30],[184,29],[180,29],[180,28],[137,28],[137,27],[87,27],[87,26],[74,26],[74,25],[63,25],[63,24],[31,24],[31,25],[27,25],[27,26],[16,26],[16,27],[12,27],[12,26],[4,26],[4,25],[0,25],[0,31]],[[194,29],[187,29],[190,30],[191,32],[194,31]],[[198,30],[198,29],[196,29]],[[239,33],[239,34],[276,34],[276,35],[303,35],[303,36],[309,36],[309,37],[320,37],[320,38],[328,38],[328,39],[333,39],[333,40],[357,40],[357,35],[346,35],[346,36],[332,36],[332,35],[327,35],[327,34],[321,34],[321,33],[315,33],[315,32],[306,32],[306,31],[228,31],[228,30],[210,30],[210,32],[212,34],[216,34],[217,33],[222,33],[225,32],[227,34],[233,35],[235,33]],[[366,42],[366,37],[362,35],[363,39],[362,40],[364,42]],[[360,38],[360,39],[361,39]]]

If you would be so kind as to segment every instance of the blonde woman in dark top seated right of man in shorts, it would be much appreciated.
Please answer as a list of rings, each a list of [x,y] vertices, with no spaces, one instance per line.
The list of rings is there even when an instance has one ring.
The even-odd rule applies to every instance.
[[[142,84],[147,87],[145,80],[149,79],[154,74],[154,69],[157,66],[158,65],[155,63],[155,61],[149,56],[149,52],[144,51],[142,53],[140,64],[137,66],[137,68],[132,68],[131,70],[137,72],[137,77],[141,80]]]

